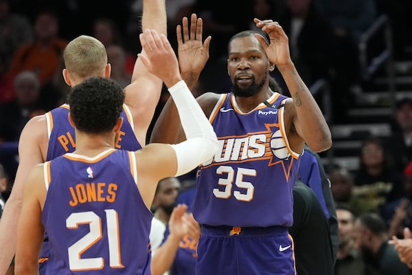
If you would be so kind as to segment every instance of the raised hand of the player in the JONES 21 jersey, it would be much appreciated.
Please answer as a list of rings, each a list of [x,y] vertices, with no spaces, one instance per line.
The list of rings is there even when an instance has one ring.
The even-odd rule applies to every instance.
[[[179,64],[166,36],[156,30],[144,30],[139,39],[143,51],[138,56],[148,71],[161,78],[167,87],[179,82]]]

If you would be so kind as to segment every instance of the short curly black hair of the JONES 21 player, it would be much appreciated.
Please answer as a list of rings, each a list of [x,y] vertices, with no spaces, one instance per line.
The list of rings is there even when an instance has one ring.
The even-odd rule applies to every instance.
[[[107,133],[122,113],[124,91],[110,78],[92,77],[73,87],[68,102],[79,131]]]

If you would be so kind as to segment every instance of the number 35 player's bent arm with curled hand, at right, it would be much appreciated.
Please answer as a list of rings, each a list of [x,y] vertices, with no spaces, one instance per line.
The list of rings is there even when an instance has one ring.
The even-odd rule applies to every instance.
[[[255,37],[264,47],[269,61],[279,69],[293,98],[293,104],[290,102],[286,104],[286,109],[289,110],[285,112],[292,114],[286,118],[286,120],[291,120],[290,124],[293,125],[293,131],[290,131],[288,135],[291,146],[297,144],[294,149],[300,152],[306,142],[315,152],[327,150],[332,146],[329,126],[290,58],[288,37],[277,22],[259,19],[254,19],[254,21],[257,27],[262,28],[262,31],[268,34],[269,44],[262,36],[256,34]],[[297,135],[294,135],[294,132]]]

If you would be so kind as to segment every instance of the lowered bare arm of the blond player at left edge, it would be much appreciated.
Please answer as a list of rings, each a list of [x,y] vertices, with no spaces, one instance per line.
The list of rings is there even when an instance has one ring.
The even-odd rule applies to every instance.
[[[42,132],[44,131],[44,133]],[[32,118],[21,132],[19,140],[19,167],[12,192],[5,203],[0,219],[0,274],[5,274],[16,252],[17,221],[23,201],[23,185],[27,174],[36,164],[44,162],[40,142],[47,140],[44,115]]]

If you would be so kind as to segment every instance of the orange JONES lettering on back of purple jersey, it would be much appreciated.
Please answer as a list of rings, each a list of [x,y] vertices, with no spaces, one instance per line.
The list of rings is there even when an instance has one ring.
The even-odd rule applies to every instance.
[[[114,202],[116,199],[117,184],[106,184],[106,182],[76,184],[69,188],[71,194],[70,206],[77,206],[78,203],[93,201]]]

